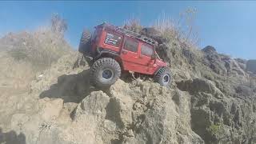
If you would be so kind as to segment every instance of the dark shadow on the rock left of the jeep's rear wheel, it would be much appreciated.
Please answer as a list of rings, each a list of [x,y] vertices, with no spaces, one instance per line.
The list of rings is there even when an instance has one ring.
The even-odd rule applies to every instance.
[[[40,98],[62,98],[64,102],[81,102],[86,95],[94,90],[90,86],[90,70],[83,70],[78,74],[63,74],[58,77],[58,83],[43,91]]]

